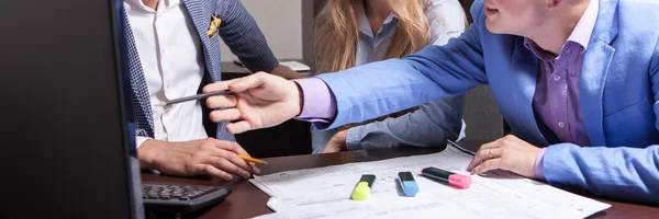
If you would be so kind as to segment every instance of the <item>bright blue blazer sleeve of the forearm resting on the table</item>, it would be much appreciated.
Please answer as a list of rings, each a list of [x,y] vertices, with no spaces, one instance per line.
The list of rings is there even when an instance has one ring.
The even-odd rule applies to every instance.
[[[650,61],[655,117],[659,118],[659,43]],[[655,122],[659,129],[659,120]],[[599,196],[659,204],[659,145],[646,148],[550,146],[543,159],[545,178],[579,186]]]

